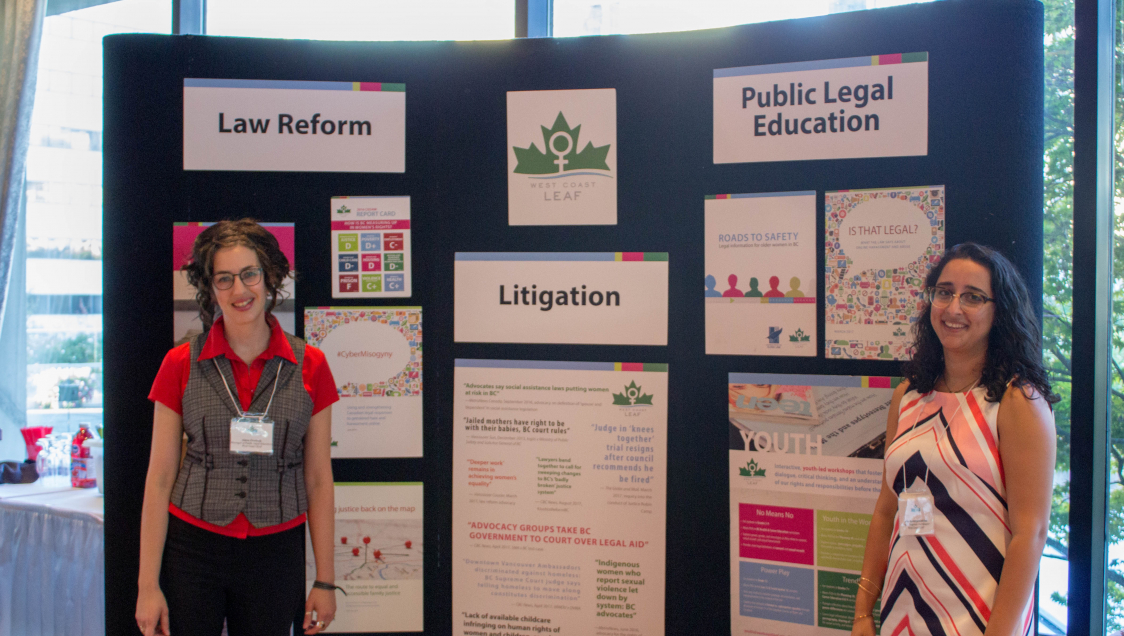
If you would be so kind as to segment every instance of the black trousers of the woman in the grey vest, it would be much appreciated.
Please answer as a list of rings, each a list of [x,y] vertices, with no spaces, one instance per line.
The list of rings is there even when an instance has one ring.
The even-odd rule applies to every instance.
[[[161,588],[178,636],[303,634],[305,526],[238,539],[170,515]]]

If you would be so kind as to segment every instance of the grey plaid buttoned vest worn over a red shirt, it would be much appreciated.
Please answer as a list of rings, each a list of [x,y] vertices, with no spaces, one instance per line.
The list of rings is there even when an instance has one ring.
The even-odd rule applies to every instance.
[[[210,360],[199,361],[207,335],[191,340],[191,374],[183,391],[183,431],[188,454],[172,487],[172,503],[205,521],[225,526],[245,512],[255,527],[274,526],[308,509],[305,490],[305,433],[312,417],[312,398],[305,390],[301,363],[305,340],[285,334],[297,364],[280,356],[265,363],[248,412],[262,412],[270,400],[278,365],[277,396],[270,407],[273,454],[230,452],[230,418],[238,412]],[[214,358],[237,399],[237,385],[226,356]],[[241,405],[239,405],[241,406]]]

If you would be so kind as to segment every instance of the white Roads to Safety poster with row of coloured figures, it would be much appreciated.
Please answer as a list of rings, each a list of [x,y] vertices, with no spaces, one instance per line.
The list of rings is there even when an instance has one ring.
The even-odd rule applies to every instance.
[[[815,356],[816,193],[708,196],[706,352]]]

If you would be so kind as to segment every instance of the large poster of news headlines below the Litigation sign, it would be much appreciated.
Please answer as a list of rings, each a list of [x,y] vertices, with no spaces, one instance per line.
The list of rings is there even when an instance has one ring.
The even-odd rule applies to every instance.
[[[457,360],[453,634],[659,636],[668,366]]]

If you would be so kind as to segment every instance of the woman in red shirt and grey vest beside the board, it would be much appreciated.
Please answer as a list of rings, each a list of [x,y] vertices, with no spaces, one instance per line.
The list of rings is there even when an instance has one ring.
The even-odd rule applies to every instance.
[[[324,354],[272,315],[290,272],[265,228],[215,224],[183,270],[203,333],[167,353],[148,396],[137,626],[145,636],[218,636],[224,621],[230,636],[317,634],[336,610],[335,381]]]

